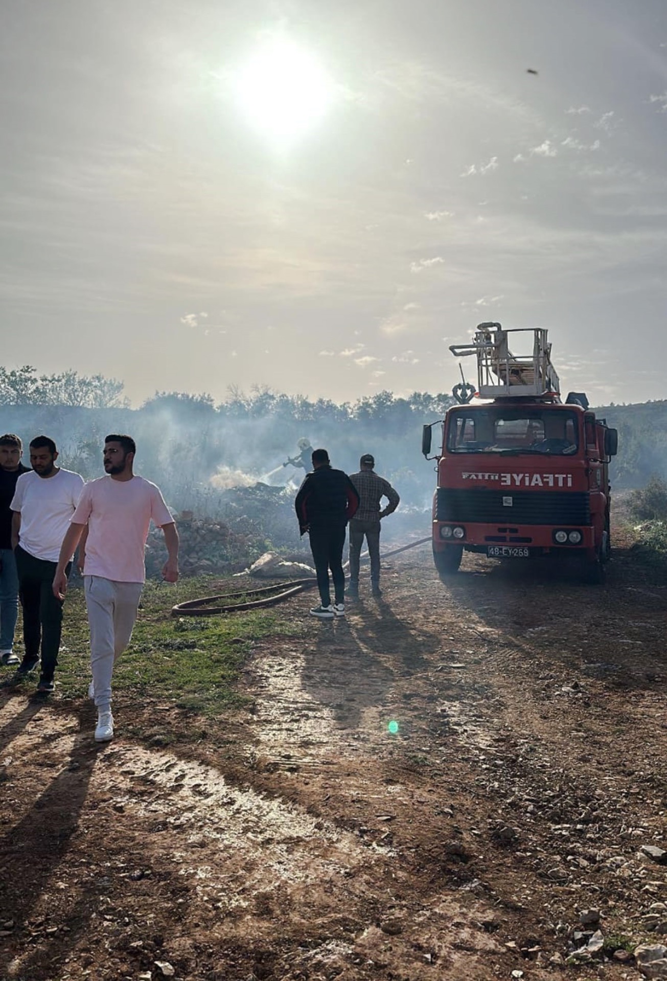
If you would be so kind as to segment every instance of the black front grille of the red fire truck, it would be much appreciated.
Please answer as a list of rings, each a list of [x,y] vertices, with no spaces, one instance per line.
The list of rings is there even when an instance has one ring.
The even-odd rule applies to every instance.
[[[436,519],[461,524],[590,525],[590,499],[588,493],[572,490],[507,488],[503,492],[438,488]]]

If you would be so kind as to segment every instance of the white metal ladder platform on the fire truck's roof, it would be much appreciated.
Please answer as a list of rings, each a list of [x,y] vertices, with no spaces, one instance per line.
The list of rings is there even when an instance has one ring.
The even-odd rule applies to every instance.
[[[523,334],[533,336],[533,350],[527,354],[513,354],[510,342],[516,350],[516,345],[521,346],[521,341],[526,338],[515,335]],[[541,327],[503,331],[500,324],[480,324],[471,343],[451,344],[449,350],[457,358],[477,355],[477,394],[480,398],[550,396],[559,401],[560,382],[551,364],[551,344],[546,334],[546,329]]]

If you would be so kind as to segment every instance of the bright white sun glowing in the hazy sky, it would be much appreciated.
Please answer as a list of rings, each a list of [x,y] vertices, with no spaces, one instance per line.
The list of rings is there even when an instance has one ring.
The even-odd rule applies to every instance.
[[[282,141],[317,123],[334,94],[317,58],[286,38],[274,38],[255,51],[236,74],[234,87],[248,122]]]

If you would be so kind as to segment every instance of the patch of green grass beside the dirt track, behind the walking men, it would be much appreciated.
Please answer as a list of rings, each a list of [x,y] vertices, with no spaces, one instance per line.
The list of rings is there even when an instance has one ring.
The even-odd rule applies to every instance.
[[[158,698],[215,716],[243,703],[238,672],[254,642],[299,633],[279,609],[211,617],[172,617],[172,606],[221,592],[219,577],[196,577],[178,586],[146,584],[128,650],[114,671],[117,702]],[[235,591],[232,579],[223,590]],[[20,628],[17,639],[21,636]],[[90,681],[88,624],[83,591],[71,587],[65,605],[63,649],[56,672],[61,697],[84,697]]]

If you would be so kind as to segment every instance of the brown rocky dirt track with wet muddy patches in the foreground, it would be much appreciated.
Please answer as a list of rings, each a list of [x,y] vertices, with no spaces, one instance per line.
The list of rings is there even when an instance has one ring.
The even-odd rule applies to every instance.
[[[612,953],[667,940],[667,586],[621,548],[602,588],[445,587],[423,546],[384,587],[257,644],[235,719],[119,704],[99,748],[86,699],[2,694],[0,977],[640,977]],[[608,958],[560,966],[591,907]]]

